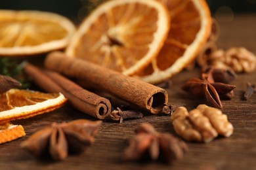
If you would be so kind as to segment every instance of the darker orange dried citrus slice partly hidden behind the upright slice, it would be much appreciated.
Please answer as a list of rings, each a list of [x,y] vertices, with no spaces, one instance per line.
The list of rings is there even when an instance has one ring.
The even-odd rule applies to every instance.
[[[171,15],[171,29],[158,57],[140,72],[156,84],[179,73],[198,54],[211,32],[211,13],[205,0],[158,0]]]

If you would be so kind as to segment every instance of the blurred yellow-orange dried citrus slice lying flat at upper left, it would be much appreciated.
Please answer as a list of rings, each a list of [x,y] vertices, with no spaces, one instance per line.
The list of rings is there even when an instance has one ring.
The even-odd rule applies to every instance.
[[[74,31],[70,20],[51,12],[0,10],[0,55],[33,55],[64,48]]]

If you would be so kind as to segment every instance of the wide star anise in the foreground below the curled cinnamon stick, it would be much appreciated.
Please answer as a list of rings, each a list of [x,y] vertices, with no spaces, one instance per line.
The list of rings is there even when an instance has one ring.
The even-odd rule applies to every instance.
[[[26,141],[21,147],[34,156],[50,154],[53,160],[64,160],[68,152],[82,152],[86,146],[94,142],[94,136],[102,121],[74,120],[57,124],[44,124],[39,131]]]

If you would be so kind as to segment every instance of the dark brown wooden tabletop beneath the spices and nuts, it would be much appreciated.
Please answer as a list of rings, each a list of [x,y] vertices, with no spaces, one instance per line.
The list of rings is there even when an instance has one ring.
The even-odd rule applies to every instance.
[[[220,22],[219,48],[244,46],[256,54],[256,14],[235,15],[232,22]],[[182,71],[172,78],[166,89],[169,103],[185,104],[194,109],[200,100],[181,90],[188,78],[199,76],[199,70]],[[256,169],[256,94],[248,101],[242,100],[245,82],[256,82],[256,72],[240,74],[231,82],[236,85],[235,97],[223,101],[223,112],[234,126],[231,137],[219,137],[208,144],[187,143],[189,151],[184,159],[173,165],[152,161],[148,163],[122,161],[127,140],[135,135],[134,130],[141,122],[153,124],[162,133],[175,134],[169,116],[148,114],[137,120],[125,120],[123,124],[104,120],[95,137],[95,143],[79,155],[70,155],[64,161],[35,159],[19,144],[32,135],[35,124],[41,121],[68,122],[77,118],[95,120],[72,107],[64,107],[27,120],[14,121],[21,124],[26,137],[0,145],[0,169]]]

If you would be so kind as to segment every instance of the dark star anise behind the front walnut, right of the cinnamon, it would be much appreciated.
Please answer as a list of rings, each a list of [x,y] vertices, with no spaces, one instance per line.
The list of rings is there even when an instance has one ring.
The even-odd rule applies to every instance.
[[[236,88],[234,85],[214,82],[212,77],[209,77],[205,73],[202,74],[202,79],[190,78],[182,86],[182,89],[186,92],[192,93],[200,98],[203,97],[209,104],[219,109],[223,108],[220,95],[228,95],[234,88]]]

